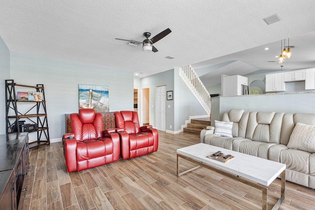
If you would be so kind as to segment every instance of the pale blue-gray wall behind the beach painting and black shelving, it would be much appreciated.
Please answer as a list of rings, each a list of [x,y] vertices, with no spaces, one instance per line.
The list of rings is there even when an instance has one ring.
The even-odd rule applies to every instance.
[[[78,112],[79,84],[108,86],[110,112],[133,110],[130,70],[11,52],[10,73],[19,84],[44,84],[51,139],[64,134],[64,114]]]

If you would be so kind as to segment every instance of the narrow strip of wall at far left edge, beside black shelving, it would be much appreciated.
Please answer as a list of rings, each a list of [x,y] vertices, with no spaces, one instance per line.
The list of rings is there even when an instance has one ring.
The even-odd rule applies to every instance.
[[[5,134],[5,82],[10,79],[10,51],[0,37],[0,134]]]

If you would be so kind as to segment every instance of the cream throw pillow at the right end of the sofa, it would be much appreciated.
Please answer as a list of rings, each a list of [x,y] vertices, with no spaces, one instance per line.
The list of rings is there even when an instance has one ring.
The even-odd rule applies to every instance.
[[[315,125],[296,123],[287,147],[314,153]]]

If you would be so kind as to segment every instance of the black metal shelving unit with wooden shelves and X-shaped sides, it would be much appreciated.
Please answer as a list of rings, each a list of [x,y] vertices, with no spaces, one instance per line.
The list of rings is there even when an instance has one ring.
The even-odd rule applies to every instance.
[[[5,80],[5,100],[6,100],[6,133],[19,133],[19,120],[28,119],[32,123],[38,124],[38,129],[29,131],[29,133],[37,132],[37,140],[29,142],[29,147],[39,147],[41,145],[50,144],[49,129],[47,120],[46,100],[44,85],[37,84],[36,86],[27,86],[14,83],[14,80]],[[23,87],[41,92],[42,101],[22,101],[17,99],[16,87]],[[19,103],[30,103],[23,114],[18,111]]]

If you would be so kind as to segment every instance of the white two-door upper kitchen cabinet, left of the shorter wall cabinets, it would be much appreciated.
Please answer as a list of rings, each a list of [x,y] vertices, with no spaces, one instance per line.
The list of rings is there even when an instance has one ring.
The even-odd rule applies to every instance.
[[[284,72],[266,74],[266,92],[285,91]]]

